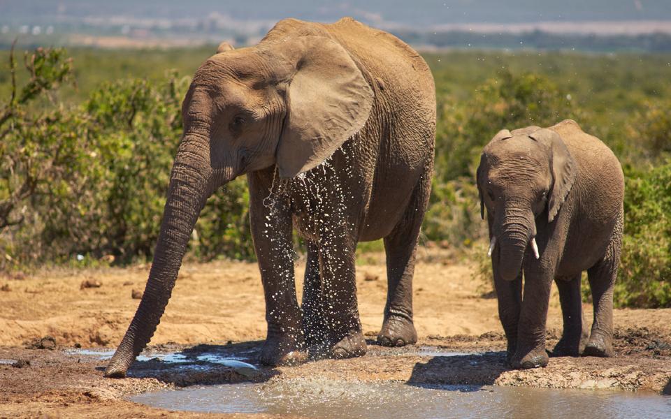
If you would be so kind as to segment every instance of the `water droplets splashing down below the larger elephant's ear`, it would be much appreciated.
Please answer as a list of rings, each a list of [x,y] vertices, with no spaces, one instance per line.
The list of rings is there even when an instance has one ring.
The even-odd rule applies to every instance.
[[[349,143],[349,144],[348,144]],[[346,142],[347,147],[354,147],[354,140]],[[296,260],[294,247],[287,246],[284,241],[278,240],[275,235],[277,230],[277,207],[280,200],[285,200],[291,205],[294,215],[294,226],[299,234],[305,237],[308,242],[314,244],[319,249],[319,272],[312,272],[321,278],[321,304],[319,313],[320,318],[326,319],[327,327],[330,330],[340,330],[343,325],[340,324],[338,311],[342,311],[342,304],[349,304],[349,297],[339,295],[342,291],[343,281],[351,281],[354,278],[352,268],[343,269],[348,260],[343,260],[345,246],[349,245],[347,238],[353,236],[352,222],[348,219],[348,203],[354,198],[354,191],[350,190],[349,185],[353,184],[354,165],[351,153],[347,152],[347,147],[338,149],[329,159],[326,159],[319,166],[303,172],[294,179],[280,179],[275,170],[273,183],[270,193],[264,198],[264,206],[268,209],[266,223],[263,233],[270,242],[275,255],[280,255],[282,260]],[[337,166],[335,161],[338,161]],[[361,182],[359,182],[361,184]],[[354,249],[352,249],[354,251]],[[341,254],[342,253],[342,254]],[[277,267],[280,268],[280,267]],[[282,290],[293,290],[294,275],[293,265],[285,268],[281,267],[280,275],[287,281]],[[283,292],[283,291],[282,291]],[[271,296],[275,299],[280,295]],[[270,313],[270,316],[276,316],[277,313]],[[318,325],[312,325],[308,321],[305,324],[308,328],[315,328]],[[329,344],[326,337],[322,336],[323,344]]]

